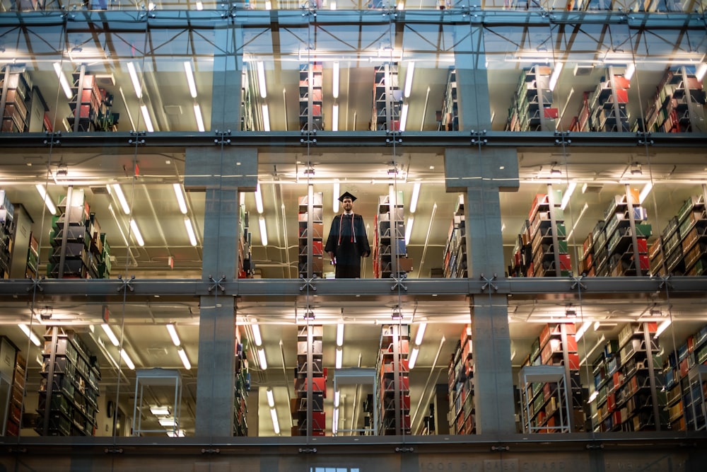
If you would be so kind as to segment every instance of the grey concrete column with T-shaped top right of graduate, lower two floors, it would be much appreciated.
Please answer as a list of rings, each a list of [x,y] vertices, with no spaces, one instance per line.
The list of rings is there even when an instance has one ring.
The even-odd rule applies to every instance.
[[[515,149],[448,149],[445,180],[448,192],[464,193],[469,277],[505,277],[499,192],[518,190]],[[491,286],[470,296],[477,433],[514,433],[508,301]]]

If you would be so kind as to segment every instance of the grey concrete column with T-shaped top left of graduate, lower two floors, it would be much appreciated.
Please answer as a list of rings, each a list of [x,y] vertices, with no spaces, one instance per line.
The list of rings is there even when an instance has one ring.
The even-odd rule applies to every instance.
[[[238,193],[254,192],[257,150],[188,148],[185,190],[205,191],[204,263],[201,278],[237,278],[239,224]],[[234,299],[218,288],[200,299],[199,374],[197,376],[197,437],[233,435],[235,382]]]

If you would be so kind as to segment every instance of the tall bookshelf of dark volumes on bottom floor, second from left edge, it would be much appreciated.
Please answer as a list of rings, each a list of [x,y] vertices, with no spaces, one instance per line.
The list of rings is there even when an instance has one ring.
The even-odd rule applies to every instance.
[[[100,368],[71,330],[47,328],[35,431],[41,436],[94,436]]]

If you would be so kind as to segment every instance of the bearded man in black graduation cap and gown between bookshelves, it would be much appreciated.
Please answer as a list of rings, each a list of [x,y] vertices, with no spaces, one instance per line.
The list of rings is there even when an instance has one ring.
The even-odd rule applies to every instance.
[[[334,217],[324,248],[336,267],[337,279],[360,278],[361,258],[367,258],[370,254],[366,226],[363,217],[354,213],[354,200],[356,197],[349,192],[339,197],[344,212]]]

